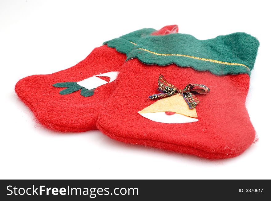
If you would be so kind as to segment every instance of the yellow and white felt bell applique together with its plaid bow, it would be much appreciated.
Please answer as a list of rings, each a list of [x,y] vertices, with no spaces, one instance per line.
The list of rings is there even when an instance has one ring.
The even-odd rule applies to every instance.
[[[163,75],[158,79],[160,94],[149,96],[152,99],[162,98],[138,113],[155,122],[189,123],[197,122],[196,105],[200,102],[193,94],[207,94],[210,89],[203,84],[188,84],[180,90],[170,84]],[[192,93],[193,92],[193,93]]]

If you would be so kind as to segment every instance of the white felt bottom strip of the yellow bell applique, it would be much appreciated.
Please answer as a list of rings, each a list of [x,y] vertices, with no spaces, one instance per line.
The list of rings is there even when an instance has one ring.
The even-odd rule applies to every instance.
[[[139,112],[138,112],[139,113]],[[199,121],[196,118],[188,117],[183,114],[167,115],[165,112],[152,112],[152,113],[139,113],[141,116],[150,119],[154,122],[168,123],[168,124],[180,124]]]

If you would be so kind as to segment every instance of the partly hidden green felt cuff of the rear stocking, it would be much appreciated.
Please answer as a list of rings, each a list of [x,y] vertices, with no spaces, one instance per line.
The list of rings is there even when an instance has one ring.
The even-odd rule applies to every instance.
[[[134,49],[141,37],[150,35],[154,31],[156,30],[152,28],[140,29],[125,34],[119,38],[106,41],[103,44],[107,44],[108,47],[115,48],[118,52],[125,53],[127,55],[132,49]]]

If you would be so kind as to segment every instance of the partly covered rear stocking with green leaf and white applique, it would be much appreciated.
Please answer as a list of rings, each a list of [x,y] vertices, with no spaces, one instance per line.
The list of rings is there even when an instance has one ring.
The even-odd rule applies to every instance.
[[[126,60],[125,54],[141,37],[154,31],[158,35],[175,33],[178,27],[166,26],[160,31],[140,29],[107,41],[71,68],[19,80],[15,91],[38,121],[48,128],[63,132],[96,129],[98,111],[114,88],[114,80]]]

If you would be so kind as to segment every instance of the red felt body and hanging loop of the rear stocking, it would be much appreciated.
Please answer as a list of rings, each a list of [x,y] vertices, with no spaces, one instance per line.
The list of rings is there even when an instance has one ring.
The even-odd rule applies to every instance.
[[[156,34],[168,34],[178,27],[166,26]],[[65,89],[53,87],[59,82],[78,82],[99,73],[120,71],[126,55],[103,45],[95,48],[83,61],[63,71],[49,75],[32,75],[18,81],[18,97],[33,111],[38,121],[47,128],[62,132],[83,132],[96,129],[99,110],[114,90],[116,81],[97,87],[94,95],[84,97],[80,90],[67,95]],[[107,78],[102,77],[106,81]]]

